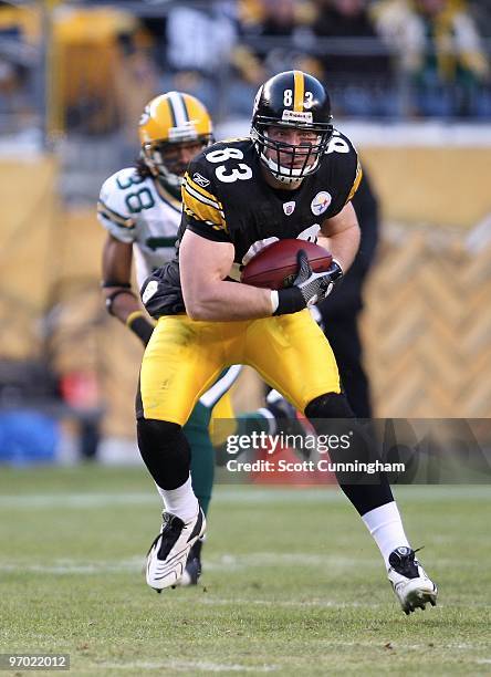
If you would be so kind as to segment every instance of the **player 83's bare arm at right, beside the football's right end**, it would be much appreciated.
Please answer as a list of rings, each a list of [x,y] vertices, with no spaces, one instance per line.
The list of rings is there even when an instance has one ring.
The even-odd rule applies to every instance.
[[[358,251],[359,235],[356,212],[347,202],[339,213],[322,223],[317,243],[327,249],[346,272]]]

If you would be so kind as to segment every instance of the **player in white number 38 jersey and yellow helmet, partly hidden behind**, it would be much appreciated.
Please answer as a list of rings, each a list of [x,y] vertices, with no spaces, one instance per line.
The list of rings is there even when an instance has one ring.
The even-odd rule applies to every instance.
[[[175,254],[181,219],[180,186],[189,160],[212,142],[212,123],[194,96],[168,92],[146,106],[139,122],[140,158],[135,167],[116,171],[103,185],[98,220],[107,230],[103,251],[103,293],[108,312],[146,345],[154,325],[132,291],[135,259],[138,284]],[[208,425],[211,410],[240,372],[223,372],[196,406],[186,427],[191,451],[192,486],[205,512],[211,498],[215,452]],[[231,407],[220,407],[231,416]],[[230,414],[229,414],[230,412]],[[196,584],[201,541],[190,553],[180,584]]]

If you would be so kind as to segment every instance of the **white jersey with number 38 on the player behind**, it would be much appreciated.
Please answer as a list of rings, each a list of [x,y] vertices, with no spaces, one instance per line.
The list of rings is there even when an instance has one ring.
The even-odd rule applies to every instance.
[[[111,235],[133,243],[139,287],[153,270],[175,256],[180,200],[135,167],[109,176],[101,188],[97,218]]]

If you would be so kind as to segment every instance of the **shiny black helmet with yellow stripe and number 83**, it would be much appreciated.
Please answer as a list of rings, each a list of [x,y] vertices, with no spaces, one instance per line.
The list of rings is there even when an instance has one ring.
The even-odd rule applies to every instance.
[[[331,101],[316,77],[302,71],[285,71],[260,86],[254,100],[251,138],[262,164],[283,184],[294,184],[313,174],[333,134]],[[269,127],[294,127],[317,134],[315,144],[293,145],[272,140]],[[306,153],[305,149],[309,149]],[[273,150],[268,157],[267,150]],[[280,153],[291,156],[285,166]],[[304,158],[297,166],[299,157]]]

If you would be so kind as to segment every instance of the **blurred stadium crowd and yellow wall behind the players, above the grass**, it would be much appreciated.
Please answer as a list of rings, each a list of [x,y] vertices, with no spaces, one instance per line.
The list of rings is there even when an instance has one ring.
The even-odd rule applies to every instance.
[[[380,198],[376,416],[491,416],[491,7],[443,0],[418,40],[435,1],[0,2],[0,464],[138,462],[140,345],[100,298],[98,189],[154,95],[194,93],[242,135],[292,66],[327,84]],[[234,398],[259,404],[251,374]]]

